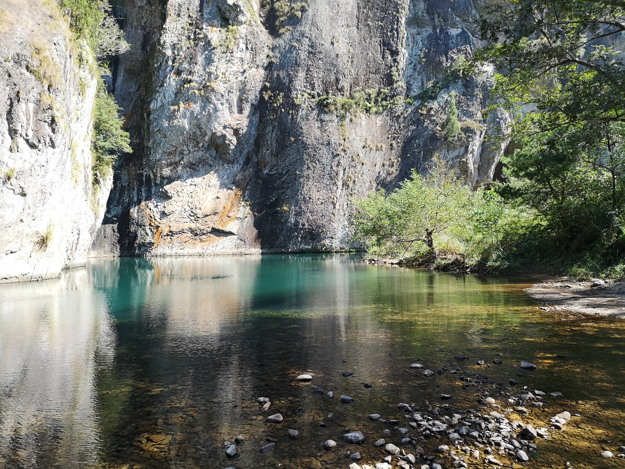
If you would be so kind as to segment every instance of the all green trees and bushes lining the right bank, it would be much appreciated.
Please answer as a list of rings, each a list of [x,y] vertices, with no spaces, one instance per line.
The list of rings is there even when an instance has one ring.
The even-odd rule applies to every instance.
[[[502,158],[503,181],[469,191],[435,158],[425,176],[356,201],[356,240],[437,266],[461,258],[486,271],[623,278],[625,66],[612,44],[625,8],[516,0],[491,6],[478,26],[490,45],[465,71],[496,66],[489,111],[512,122],[490,138],[519,148]]]

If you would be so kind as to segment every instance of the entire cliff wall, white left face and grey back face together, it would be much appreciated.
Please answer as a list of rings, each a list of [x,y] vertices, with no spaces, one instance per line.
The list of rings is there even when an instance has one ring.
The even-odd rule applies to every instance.
[[[96,83],[38,1],[0,20],[2,281],[88,255],[344,250],[352,198],[437,153],[475,186],[502,152],[484,143],[506,124],[482,118],[489,71],[456,67],[479,46],[472,1],[117,0],[132,48],[109,85],[134,151],[109,197],[91,177]]]

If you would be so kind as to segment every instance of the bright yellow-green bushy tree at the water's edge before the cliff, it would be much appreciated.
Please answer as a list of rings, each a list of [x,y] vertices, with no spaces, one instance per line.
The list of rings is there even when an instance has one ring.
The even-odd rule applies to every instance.
[[[496,195],[471,191],[439,156],[427,170],[422,175],[413,169],[411,178],[388,196],[377,189],[354,201],[354,239],[380,255],[491,254],[505,215]]]

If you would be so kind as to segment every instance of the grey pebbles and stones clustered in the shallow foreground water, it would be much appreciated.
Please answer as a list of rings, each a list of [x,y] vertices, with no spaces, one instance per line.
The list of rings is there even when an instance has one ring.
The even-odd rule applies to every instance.
[[[496,359],[493,363],[496,364],[497,361]],[[490,366],[485,365],[484,361],[478,361],[477,365]],[[424,370],[420,363],[410,366],[417,371],[417,376],[428,378],[435,374],[432,370]],[[532,370],[536,366],[522,361],[520,368]],[[332,463],[332,466],[344,465],[349,466],[349,469],[467,469],[476,465],[521,469],[531,463],[534,456],[539,456],[539,451],[544,450],[541,448],[542,441],[549,440],[552,433],[564,430],[569,421],[581,420],[581,415],[571,415],[569,411],[561,410],[557,400],[563,396],[559,391],[545,393],[532,390],[528,386],[514,389],[516,380],[513,379],[509,380],[509,386],[502,383],[489,385],[486,375],[472,375],[468,371],[461,373],[459,367],[451,370],[444,367],[437,370],[436,374],[447,372],[459,375],[458,380],[462,383],[457,384],[462,384],[465,390],[469,386],[476,389],[475,408],[454,408],[448,401],[452,396],[447,394],[439,396],[441,402],[447,401],[444,404],[430,404],[427,401],[424,405],[397,403],[386,413],[366,415],[369,421],[362,422],[362,430],[365,430],[367,423],[374,423],[379,426],[374,433],[350,427],[344,428],[344,433],[337,438],[339,441],[319,441],[321,457],[307,461],[305,467],[321,469],[327,463]],[[346,373],[349,372],[346,371],[344,375]],[[521,373],[518,375],[521,376]],[[314,373],[304,373],[298,375],[296,381],[312,383],[314,376]],[[332,391],[325,391],[314,385],[312,393],[320,395],[320,398],[336,399]],[[357,405],[350,396],[342,395],[339,400],[343,405]],[[532,409],[545,410],[548,403],[553,403],[555,408],[545,426],[540,418],[532,415]],[[271,413],[270,398],[259,397],[257,404],[262,406],[259,409],[262,412]],[[324,420],[336,418],[336,413],[329,412]],[[301,424],[287,423],[281,413],[266,416],[262,420],[266,425],[275,427],[272,433],[276,436],[267,436],[262,443],[256,441],[261,453],[275,450],[276,445],[280,445],[281,440],[284,441],[284,437],[287,440],[299,438],[297,428]],[[319,421],[319,425],[327,426],[324,421]],[[242,444],[244,437],[239,435],[234,438],[234,443],[224,441],[222,449],[229,459],[234,459],[238,455],[237,445]],[[615,446],[614,450],[619,454],[604,450],[596,456],[625,458],[625,446]],[[340,463],[341,454],[344,464]],[[292,463],[279,463],[278,466],[286,469],[299,467]],[[570,464],[567,463],[567,466]],[[234,469],[234,466],[227,469]]]

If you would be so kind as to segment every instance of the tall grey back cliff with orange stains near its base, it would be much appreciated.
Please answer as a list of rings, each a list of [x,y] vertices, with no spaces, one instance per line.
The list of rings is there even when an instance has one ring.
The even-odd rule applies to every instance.
[[[134,153],[94,255],[342,250],[351,198],[435,154],[472,186],[492,178],[502,149],[485,124],[506,118],[482,121],[489,73],[454,72],[478,45],[475,8],[121,0],[133,48],[113,84]],[[447,139],[452,93],[463,135]]]

